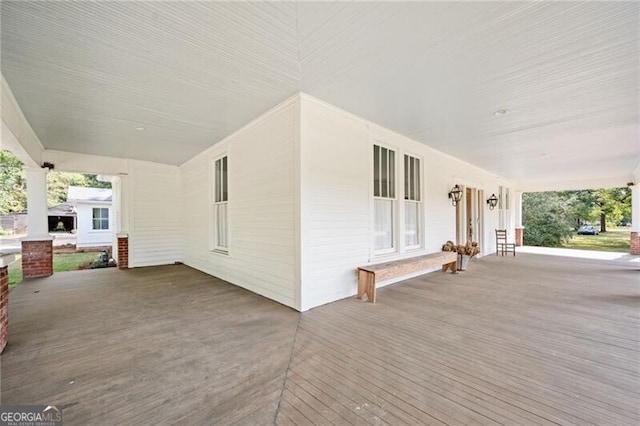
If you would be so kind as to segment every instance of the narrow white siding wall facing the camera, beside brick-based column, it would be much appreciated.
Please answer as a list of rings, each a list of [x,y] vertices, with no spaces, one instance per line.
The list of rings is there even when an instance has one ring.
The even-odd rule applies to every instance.
[[[129,266],[181,261],[183,210],[178,168],[131,161],[127,178],[131,190]]]

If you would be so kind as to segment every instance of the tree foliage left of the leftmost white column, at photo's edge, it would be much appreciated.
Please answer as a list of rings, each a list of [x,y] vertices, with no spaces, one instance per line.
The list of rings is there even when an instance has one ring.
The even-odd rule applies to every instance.
[[[23,164],[9,151],[0,150],[0,215],[27,209],[27,184]]]

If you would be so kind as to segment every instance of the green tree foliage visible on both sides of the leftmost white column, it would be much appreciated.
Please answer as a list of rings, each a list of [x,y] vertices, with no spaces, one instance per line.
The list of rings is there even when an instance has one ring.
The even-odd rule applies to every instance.
[[[22,162],[9,151],[0,150],[0,215],[27,210],[27,179]],[[67,201],[69,185],[111,188],[96,175],[49,172],[47,174],[47,205],[53,207]]]

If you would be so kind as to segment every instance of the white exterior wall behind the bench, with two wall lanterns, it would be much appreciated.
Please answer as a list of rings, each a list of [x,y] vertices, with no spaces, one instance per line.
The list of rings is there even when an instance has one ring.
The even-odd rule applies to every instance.
[[[374,143],[396,150],[398,165],[405,153],[422,159],[421,249],[373,254]],[[455,184],[484,191],[481,251],[495,252],[498,210],[490,211],[486,198],[498,193],[498,185],[511,186],[513,193],[509,182],[306,95],[301,101],[300,144],[301,310],[355,295],[358,266],[437,252],[447,240],[455,241],[455,208],[447,198]],[[400,170],[397,167],[398,203]]]

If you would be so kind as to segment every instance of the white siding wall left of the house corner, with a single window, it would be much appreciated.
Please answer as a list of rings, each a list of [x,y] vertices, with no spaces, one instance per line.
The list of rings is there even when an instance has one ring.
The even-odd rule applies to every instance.
[[[299,309],[297,96],[180,167],[184,263]],[[213,161],[228,156],[229,252],[211,250]]]

